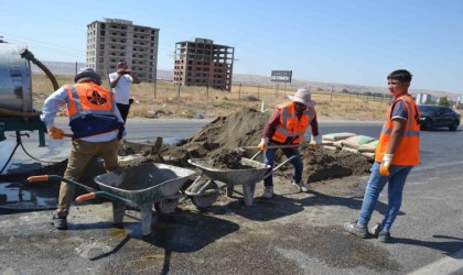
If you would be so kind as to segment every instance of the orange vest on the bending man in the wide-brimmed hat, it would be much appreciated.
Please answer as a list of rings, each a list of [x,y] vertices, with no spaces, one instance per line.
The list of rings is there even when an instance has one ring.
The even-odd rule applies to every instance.
[[[277,108],[280,110],[280,122],[276,127],[271,140],[284,143],[288,138],[292,138],[292,144],[301,143],[305,130],[315,117],[315,109],[313,107],[305,108],[301,119],[298,119],[294,102],[291,101],[286,105],[279,105]]]

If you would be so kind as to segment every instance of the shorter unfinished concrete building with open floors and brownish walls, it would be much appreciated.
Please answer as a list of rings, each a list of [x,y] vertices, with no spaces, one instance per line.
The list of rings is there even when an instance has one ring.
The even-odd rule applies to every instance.
[[[174,85],[232,90],[235,48],[212,40],[175,43]]]

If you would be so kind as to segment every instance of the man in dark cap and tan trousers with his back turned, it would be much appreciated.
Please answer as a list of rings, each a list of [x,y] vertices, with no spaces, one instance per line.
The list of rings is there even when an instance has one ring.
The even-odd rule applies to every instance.
[[[73,131],[72,147],[64,177],[78,182],[84,168],[95,156],[105,161],[107,170],[115,170],[118,165],[118,150],[123,133],[123,120],[114,100],[114,94],[103,87],[101,77],[93,68],[84,68],[74,78],[75,84],[65,85],[54,91],[44,102],[41,119],[52,139],[63,139],[64,131],[55,127],[54,120],[58,108],[66,106],[69,127]],[[66,217],[74,199],[75,187],[62,183],[58,206],[53,215],[56,229],[66,230]],[[120,206],[115,206],[123,212]],[[115,213],[116,213],[115,208]],[[118,216],[121,223],[123,216]]]

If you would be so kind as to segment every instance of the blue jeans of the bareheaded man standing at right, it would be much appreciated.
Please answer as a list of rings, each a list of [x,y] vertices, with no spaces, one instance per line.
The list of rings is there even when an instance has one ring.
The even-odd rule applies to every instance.
[[[387,210],[381,227],[385,230],[390,230],[402,204],[402,191],[407,176],[413,166],[391,165],[389,167],[390,176],[384,177],[379,174],[379,163],[375,162],[372,167],[372,175],[369,176],[368,185],[365,190],[357,224],[368,226],[376,202],[378,201],[379,194],[386,183],[389,182]]]

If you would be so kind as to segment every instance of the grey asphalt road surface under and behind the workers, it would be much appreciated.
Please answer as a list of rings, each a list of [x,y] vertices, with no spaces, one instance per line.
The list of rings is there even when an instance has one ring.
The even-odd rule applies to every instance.
[[[203,120],[129,120],[127,139],[146,141],[152,140],[154,136],[189,138],[206,123],[208,121]],[[381,124],[378,122],[320,122],[322,134],[354,132],[377,138],[380,127]],[[395,238],[391,244],[383,244],[377,240],[359,240],[342,231],[342,224],[356,219],[358,215],[362,201],[358,196],[317,198],[316,196],[292,197],[288,195],[284,198],[281,197],[276,206],[280,202],[294,204],[291,212],[283,213],[283,210],[274,208],[273,212],[268,213],[273,215],[272,218],[258,219],[250,210],[250,212],[243,210],[233,204],[213,211],[212,216],[182,211],[173,224],[174,228],[177,228],[176,233],[187,226],[189,219],[193,227],[194,224],[215,227],[215,231],[209,232],[211,235],[205,234],[202,230],[190,233],[183,231],[183,239],[179,237],[180,239],[176,239],[179,242],[172,244],[173,246],[158,239],[150,241],[149,244],[153,245],[151,246],[153,254],[150,254],[148,258],[154,262],[151,263],[151,270],[146,267],[147,272],[137,270],[138,262],[133,262],[132,254],[123,254],[123,250],[117,253],[123,245],[127,246],[127,250],[131,248],[130,245],[138,248],[133,249],[131,253],[137,253],[137,250],[139,253],[147,253],[147,249],[143,249],[140,243],[133,244],[133,240],[129,241],[127,238],[120,239],[120,242],[112,246],[108,241],[106,245],[109,248],[105,250],[104,256],[90,257],[88,253],[86,256],[80,254],[79,260],[75,260],[77,262],[73,264],[67,257],[72,256],[75,251],[69,249],[67,252],[69,254],[62,252],[64,254],[60,256],[55,253],[55,257],[60,261],[46,262],[49,266],[44,264],[40,266],[42,273],[56,271],[60,274],[86,271],[77,264],[86,265],[86,273],[89,274],[122,274],[130,268],[139,271],[139,274],[153,274],[153,268],[158,274],[168,274],[169,272],[172,274],[407,274],[413,272],[416,274],[463,274],[462,141],[462,128],[456,132],[448,130],[421,132],[421,164],[413,168],[408,178],[402,207],[391,231]],[[37,144],[34,138],[24,142],[31,154],[37,154],[43,158],[56,160],[65,157],[65,153],[67,153],[66,142],[56,145],[53,153],[50,152],[50,148],[37,148],[34,144]],[[14,157],[17,165],[28,163],[26,158],[21,152],[18,152]],[[379,201],[372,222],[379,221],[385,211],[386,191],[381,194]],[[266,209],[268,209],[268,205],[257,200],[252,210],[266,211]],[[77,211],[91,212],[86,208]],[[45,234],[53,234],[53,238],[57,238],[55,231],[53,231],[55,233],[51,233],[50,226],[42,224],[42,215],[49,217],[50,212],[0,216],[0,229],[3,235],[0,237],[0,272],[21,274],[21,271],[32,271],[26,268],[28,265],[33,264],[30,261],[41,260],[41,257],[33,258],[28,255],[40,253],[41,244],[33,243],[34,249],[24,246],[20,250],[11,248],[12,241],[25,238],[25,240],[34,242],[42,240],[40,235]],[[78,215],[76,216],[78,217]],[[34,224],[35,229],[28,231],[28,224]],[[103,228],[105,224],[96,229],[89,226],[83,228],[76,226],[75,230],[57,233],[75,238],[71,243],[77,246],[74,248],[77,250],[83,249],[83,244],[80,246],[78,244],[84,243],[77,235],[91,235],[96,233],[95,230],[101,231]],[[246,243],[240,242],[240,239],[246,238],[249,231],[252,231],[250,229],[254,228],[256,228],[255,232],[260,232],[257,231],[257,228],[263,228],[261,230],[265,235],[254,235]],[[190,227],[190,229],[192,228]],[[176,234],[174,231],[171,233]],[[107,231],[105,232],[107,233]],[[173,238],[171,234],[166,234],[169,238]],[[96,239],[104,240],[105,234],[96,235]],[[185,239],[185,235],[190,235],[194,241]],[[112,241],[118,240],[115,235],[112,239]],[[65,241],[62,242],[65,243]],[[190,246],[184,246],[185,243],[190,243]],[[229,249],[222,248],[223,243],[226,243]],[[47,245],[44,244],[43,250],[45,248]],[[56,246],[52,245],[51,248]],[[108,253],[111,248],[112,252]],[[164,251],[161,255],[155,253],[159,249]],[[19,255],[28,256],[25,260],[22,256],[14,256],[10,250]],[[62,250],[65,250],[64,246]],[[365,255],[365,251],[370,252],[372,257],[364,256],[360,260],[357,258],[358,261],[355,260],[354,255]],[[366,254],[368,255],[368,253]],[[380,262],[381,257],[384,257],[384,262]],[[115,262],[123,258],[130,258],[132,262],[123,266],[123,261]],[[161,262],[159,263],[157,258]],[[24,261],[21,262],[21,260]],[[148,260],[144,258],[144,261]],[[58,267],[60,262],[64,263],[66,267]],[[56,266],[53,266],[54,264]],[[157,265],[158,267],[153,267]],[[267,265],[268,270],[262,268],[262,265]],[[101,267],[97,266],[106,266],[109,270],[98,270]],[[120,270],[116,270],[116,267]],[[33,272],[25,273],[35,274]]]

